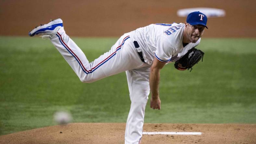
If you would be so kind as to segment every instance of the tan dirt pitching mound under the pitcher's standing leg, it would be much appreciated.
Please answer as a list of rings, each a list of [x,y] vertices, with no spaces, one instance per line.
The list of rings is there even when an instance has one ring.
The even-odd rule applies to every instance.
[[[49,126],[0,136],[0,143],[124,143],[124,123],[73,123]],[[149,134],[142,144],[256,143],[256,125],[249,124],[145,124],[146,132],[201,132],[201,135]]]

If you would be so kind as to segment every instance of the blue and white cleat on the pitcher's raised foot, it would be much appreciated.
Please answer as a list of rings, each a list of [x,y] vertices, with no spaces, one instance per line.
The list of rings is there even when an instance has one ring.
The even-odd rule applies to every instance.
[[[55,36],[57,31],[63,27],[62,20],[60,18],[51,20],[49,23],[41,26],[36,26],[34,30],[29,32],[29,36],[39,35],[42,39],[51,39]]]

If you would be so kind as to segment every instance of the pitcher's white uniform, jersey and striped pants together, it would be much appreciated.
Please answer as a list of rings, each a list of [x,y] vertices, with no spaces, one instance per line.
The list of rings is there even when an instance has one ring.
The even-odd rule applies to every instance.
[[[63,28],[58,30],[51,42],[82,82],[91,83],[126,71],[131,108],[126,123],[125,143],[138,144],[142,138],[145,107],[150,93],[150,66],[154,57],[164,63],[173,62],[200,42],[199,39],[183,47],[184,26],[182,23],[151,24],[125,33],[109,52],[90,63]],[[135,48],[134,41],[138,42],[139,48]],[[142,62],[138,52],[142,52],[145,62]]]

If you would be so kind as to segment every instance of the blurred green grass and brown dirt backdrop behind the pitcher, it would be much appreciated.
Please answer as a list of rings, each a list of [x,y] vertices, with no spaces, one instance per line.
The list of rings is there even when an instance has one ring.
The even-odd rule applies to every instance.
[[[183,22],[184,8],[223,9],[208,18],[192,72],[161,70],[161,110],[146,107],[145,123],[256,122],[255,0],[0,0],[0,135],[72,122],[125,123],[130,109],[125,73],[81,83],[50,41],[29,37],[40,23],[62,18],[67,34],[89,61],[126,32],[152,23]]]

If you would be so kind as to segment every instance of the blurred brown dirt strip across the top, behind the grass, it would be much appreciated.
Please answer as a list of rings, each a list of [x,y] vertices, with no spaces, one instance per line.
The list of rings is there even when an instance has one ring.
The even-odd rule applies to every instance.
[[[219,8],[222,18],[209,18],[204,37],[255,37],[255,0],[1,0],[0,35],[26,36],[36,25],[62,18],[70,36],[119,37],[151,23],[183,22],[177,10]]]

